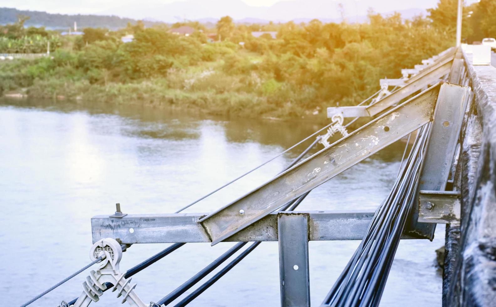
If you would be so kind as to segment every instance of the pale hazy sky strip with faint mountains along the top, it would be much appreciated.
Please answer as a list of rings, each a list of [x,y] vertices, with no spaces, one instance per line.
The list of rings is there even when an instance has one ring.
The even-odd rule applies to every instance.
[[[337,3],[344,4],[347,16],[365,16],[369,7],[380,13],[412,8],[425,11],[438,2],[438,0],[188,0],[187,3],[184,1],[186,0],[1,0],[0,6],[50,13],[114,14],[135,19],[151,18],[165,21],[183,18],[191,20],[205,17],[218,18],[225,14],[235,19],[255,17],[291,20],[298,17],[336,18],[339,16]],[[474,1],[465,0],[466,3]],[[277,2],[281,3],[269,7]]]

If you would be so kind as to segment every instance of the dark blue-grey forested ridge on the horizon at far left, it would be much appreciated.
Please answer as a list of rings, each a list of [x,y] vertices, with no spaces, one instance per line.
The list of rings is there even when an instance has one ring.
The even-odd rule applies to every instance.
[[[135,24],[137,20],[119,16],[104,15],[66,15],[50,14],[47,12],[18,10],[15,8],[0,7],[0,24],[17,21],[17,15],[29,16],[24,24],[27,26],[45,26],[49,29],[64,29],[74,26],[74,21],[79,29],[85,27],[104,27],[109,29],[124,28],[128,22]],[[156,21],[144,21],[145,25],[152,25]]]

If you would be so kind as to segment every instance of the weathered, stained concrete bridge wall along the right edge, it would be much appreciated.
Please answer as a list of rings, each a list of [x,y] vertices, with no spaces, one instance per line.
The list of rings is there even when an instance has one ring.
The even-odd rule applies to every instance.
[[[451,291],[447,306],[496,306],[496,67],[474,66],[471,54],[463,57],[474,100],[464,123],[458,172],[463,211],[454,269],[459,275],[451,289],[443,290]]]

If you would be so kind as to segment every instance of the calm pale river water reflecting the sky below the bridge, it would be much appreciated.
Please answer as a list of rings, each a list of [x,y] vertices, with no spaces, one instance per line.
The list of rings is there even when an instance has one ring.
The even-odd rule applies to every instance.
[[[208,118],[141,107],[0,102],[1,306],[20,306],[89,262],[90,218],[170,213],[291,146],[318,125]],[[301,148],[300,150],[303,150]],[[298,210],[375,209],[398,170],[398,142],[313,190]],[[209,212],[280,172],[298,150],[185,212]],[[381,306],[440,306],[434,242],[401,241]],[[310,242],[313,306],[333,285],[359,242]],[[158,301],[232,246],[186,244],[132,279],[144,302]],[[121,269],[167,244],[131,246]],[[55,307],[81,293],[87,272],[31,306]],[[189,293],[189,292],[188,292]],[[95,306],[121,306],[106,292]],[[177,301],[179,302],[179,300]],[[277,242],[262,243],[189,306],[279,306]]]

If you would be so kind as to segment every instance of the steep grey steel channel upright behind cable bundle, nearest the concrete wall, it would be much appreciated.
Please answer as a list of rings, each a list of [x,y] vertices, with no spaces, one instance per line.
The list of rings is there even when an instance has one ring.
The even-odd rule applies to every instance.
[[[445,189],[470,97],[472,97],[470,87],[451,83],[444,83],[441,87],[422,167],[419,190],[443,191]],[[428,239],[434,238],[435,224],[421,223],[418,218],[419,207],[414,206],[406,229],[407,233]]]

